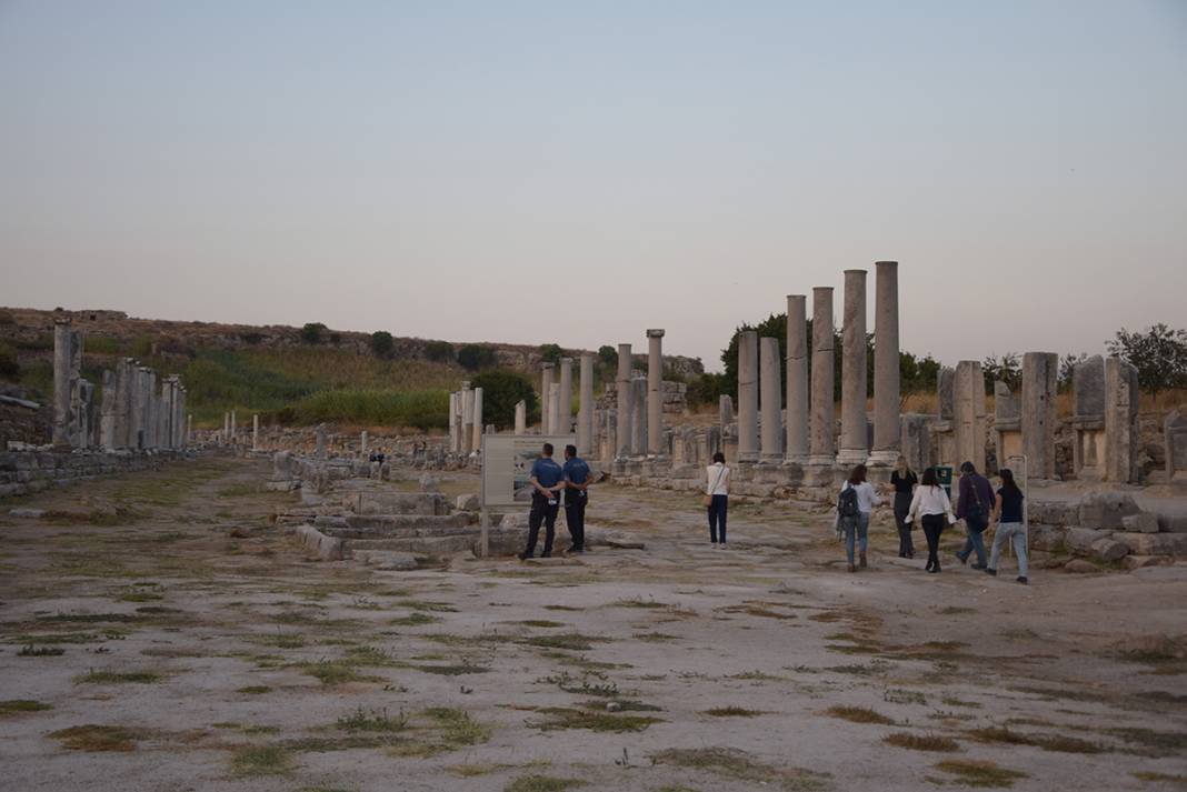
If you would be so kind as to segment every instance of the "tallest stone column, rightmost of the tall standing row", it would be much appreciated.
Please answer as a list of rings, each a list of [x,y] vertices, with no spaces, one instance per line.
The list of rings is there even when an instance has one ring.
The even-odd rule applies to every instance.
[[[877,261],[874,294],[874,465],[894,465],[902,448],[899,420],[899,262]]]

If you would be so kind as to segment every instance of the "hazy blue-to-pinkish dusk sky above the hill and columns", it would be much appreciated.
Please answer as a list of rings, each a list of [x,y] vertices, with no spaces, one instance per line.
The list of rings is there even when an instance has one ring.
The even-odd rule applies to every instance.
[[[0,0],[0,305],[716,368],[894,258],[950,363],[1187,326],[1182,0]]]

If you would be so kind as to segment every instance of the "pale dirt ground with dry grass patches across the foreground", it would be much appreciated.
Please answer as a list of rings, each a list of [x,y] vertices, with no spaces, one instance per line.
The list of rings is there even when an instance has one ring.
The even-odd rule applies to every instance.
[[[1187,564],[1021,586],[953,532],[926,575],[876,516],[849,574],[820,516],[735,504],[722,550],[604,485],[646,549],[374,571],[306,558],[269,470],[0,507],[2,788],[1187,788]]]

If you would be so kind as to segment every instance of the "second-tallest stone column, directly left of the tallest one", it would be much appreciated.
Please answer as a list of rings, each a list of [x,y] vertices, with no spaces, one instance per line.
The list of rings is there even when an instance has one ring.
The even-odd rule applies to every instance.
[[[845,318],[840,336],[840,452],[837,462],[864,465],[870,456],[865,398],[865,270],[845,270]]]

